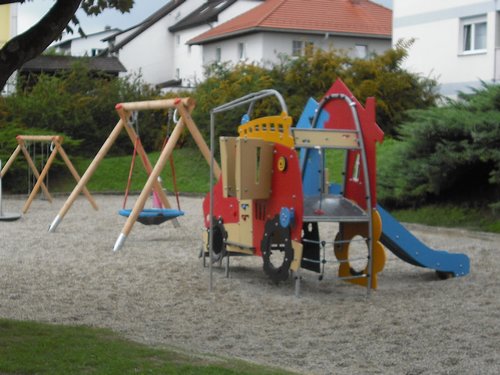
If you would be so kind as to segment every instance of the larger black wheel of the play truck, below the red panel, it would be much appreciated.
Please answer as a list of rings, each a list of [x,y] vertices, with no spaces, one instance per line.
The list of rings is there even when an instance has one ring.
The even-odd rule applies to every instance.
[[[288,278],[294,253],[290,227],[280,223],[279,215],[268,220],[261,241],[264,273],[275,283]]]

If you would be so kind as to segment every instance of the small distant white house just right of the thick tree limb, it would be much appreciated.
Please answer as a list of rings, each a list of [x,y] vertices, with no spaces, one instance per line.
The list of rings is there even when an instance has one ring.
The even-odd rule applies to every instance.
[[[106,38],[120,31],[106,26],[103,31],[55,43],[52,48],[58,53],[69,56],[99,56],[108,47]]]

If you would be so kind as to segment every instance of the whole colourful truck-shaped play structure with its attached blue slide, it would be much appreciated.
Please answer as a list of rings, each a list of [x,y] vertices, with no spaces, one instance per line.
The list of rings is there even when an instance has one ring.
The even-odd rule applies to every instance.
[[[273,96],[281,114],[250,120],[256,102]],[[384,268],[382,245],[442,278],[468,274],[467,256],[428,248],[377,205],[375,148],[383,132],[375,122],[373,98],[363,107],[337,81],[319,103],[308,102],[292,128],[279,93],[249,94],[212,110],[212,152],[216,115],[243,105],[249,109],[238,136],[220,138],[222,176],[215,184],[212,180],[203,202],[203,257],[210,259],[210,289],[212,262],[226,257],[227,274],[230,256],[256,255],[275,282],[292,271],[298,294],[301,269],[323,278],[329,245],[339,264],[338,277],[366,286],[368,292],[377,287],[377,274]],[[344,151],[343,181],[329,181],[325,155],[331,149]],[[331,239],[329,228],[323,240],[320,225],[332,223],[338,223],[336,236]],[[349,257],[355,241],[367,247],[361,269]]]

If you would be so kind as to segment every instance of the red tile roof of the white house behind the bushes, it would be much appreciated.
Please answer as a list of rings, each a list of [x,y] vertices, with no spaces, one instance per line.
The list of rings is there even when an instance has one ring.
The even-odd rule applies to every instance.
[[[390,38],[392,11],[368,0],[267,0],[193,39],[204,44],[257,31],[355,34]]]

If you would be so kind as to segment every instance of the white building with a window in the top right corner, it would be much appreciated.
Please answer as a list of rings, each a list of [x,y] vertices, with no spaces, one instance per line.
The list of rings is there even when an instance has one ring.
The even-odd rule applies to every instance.
[[[498,1],[394,0],[393,42],[413,38],[405,67],[454,97],[499,79],[499,10]]]

